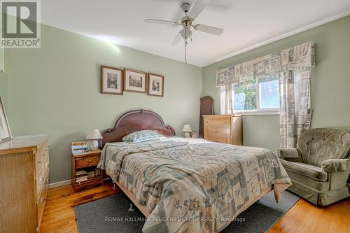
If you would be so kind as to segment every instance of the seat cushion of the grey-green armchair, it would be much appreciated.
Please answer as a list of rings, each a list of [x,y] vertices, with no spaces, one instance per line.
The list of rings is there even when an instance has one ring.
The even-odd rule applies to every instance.
[[[302,162],[289,162],[286,160],[281,160],[281,163],[286,170],[307,176],[315,181],[325,182],[328,179],[328,174],[325,171],[322,171],[321,167],[304,164]]]

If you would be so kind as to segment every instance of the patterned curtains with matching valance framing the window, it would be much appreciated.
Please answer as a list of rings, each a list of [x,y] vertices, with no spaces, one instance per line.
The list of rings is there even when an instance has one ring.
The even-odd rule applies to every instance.
[[[216,72],[221,114],[233,113],[233,85],[276,75],[280,80],[280,146],[295,147],[311,122],[310,77],[314,42],[287,48]]]

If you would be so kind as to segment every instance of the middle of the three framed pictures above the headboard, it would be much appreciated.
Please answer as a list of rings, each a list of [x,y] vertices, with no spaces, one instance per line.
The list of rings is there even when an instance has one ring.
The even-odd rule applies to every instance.
[[[146,72],[134,71],[132,69],[124,69],[124,90],[126,92],[146,93],[146,76]]]

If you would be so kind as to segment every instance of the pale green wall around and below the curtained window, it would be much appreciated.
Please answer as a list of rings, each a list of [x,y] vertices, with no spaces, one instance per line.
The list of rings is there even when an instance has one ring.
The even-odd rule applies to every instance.
[[[316,67],[311,75],[311,107],[314,109],[311,127],[350,130],[350,16],[205,66],[202,68],[202,95],[210,95],[219,103],[215,87],[218,69],[311,40],[316,43]],[[218,104],[216,113],[219,113]],[[279,116],[244,116],[243,143],[270,150],[279,148]]]

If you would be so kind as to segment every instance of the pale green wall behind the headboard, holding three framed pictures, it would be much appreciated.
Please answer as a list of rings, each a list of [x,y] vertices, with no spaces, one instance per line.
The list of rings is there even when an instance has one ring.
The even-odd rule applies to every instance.
[[[71,141],[106,129],[119,115],[151,109],[182,135],[199,125],[200,67],[43,25],[41,49],[6,49],[8,118],[13,135],[50,134],[51,183],[71,178]],[[165,76],[165,97],[100,94],[100,66]]]

